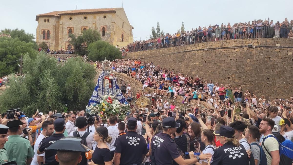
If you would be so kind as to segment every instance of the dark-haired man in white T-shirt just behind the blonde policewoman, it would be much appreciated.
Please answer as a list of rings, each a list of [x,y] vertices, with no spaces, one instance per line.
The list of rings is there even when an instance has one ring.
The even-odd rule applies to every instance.
[[[244,146],[246,151],[249,150],[250,149],[249,143],[242,137],[244,129],[247,127],[247,125],[244,122],[235,121],[233,123],[230,123],[229,126],[234,128],[235,138],[239,141],[239,143]]]

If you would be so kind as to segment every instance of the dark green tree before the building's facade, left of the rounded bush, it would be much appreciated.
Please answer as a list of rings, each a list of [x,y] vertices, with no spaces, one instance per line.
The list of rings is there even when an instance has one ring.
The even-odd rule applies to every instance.
[[[74,34],[70,34],[69,36],[71,38],[69,43],[74,46],[74,51],[79,55],[88,54],[87,48],[83,48],[81,46],[82,43],[86,43],[87,46],[89,46],[90,43],[101,40],[100,33],[93,29],[82,31],[82,33],[77,37]]]

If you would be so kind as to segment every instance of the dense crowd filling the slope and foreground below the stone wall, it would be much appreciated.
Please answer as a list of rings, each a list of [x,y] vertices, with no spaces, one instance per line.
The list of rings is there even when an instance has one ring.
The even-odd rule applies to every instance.
[[[58,56],[56,58],[59,60]],[[86,56],[84,59],[87,60]],[[100,62],[88,62],[96,68],[102,68]],[[171,68],[155,66],[148,61],[115,60],[111,62],[111,67],[114,73],[124,73],[142,82],[143,89],[134,94],[130,84],[126,85],[123,79],[117,79],[114,74],[113,78],[124,86],[121,90],[128,102],[135,102],[144,96],[151,99],[152,105],[144,109],[133,107],[124,121],[116,116],[110,116],[105,123],[102,123],[99,116],[95,116],[95,122],[87,122],[84,119],[88,119],[84,111],[67,111],[59,115],[55,111],[56,114],[53,115],[53,111],[37,110],[31,118],[25,114],[19,114],[20,117],[16,115],[15,120],[23,122],[16,132],[27,137],[27,142],[31,146],[27,146],[26,151],[29,152],[24,154],[25,158],[16,159],[12,154],[14,150],[22,152],[25,149],[17,150],[12,147],[10,144],[16,140],[16,135],[13,131],[8,132],[11,137],[8,137],[4,147],[8,151],[9,159],[19,163],[32,161],[34,164],[52,160],[62,161],[55,160],[56,156],[52,156],[51,152],[44,154],[44,149],[51,145],[46,141],[50,138],[79,136],[74,132],[81,136],[88,132],[88,137],[91,138],[85,138],[84,147],[93,153],[92,161],[95,164],[117,165],[127,161],[128,164],[149,165],[156,161],[161,164],[198,162],[201,165],[221,165],[235,164],[237,161],[239,165],[247,165],[262,164],[264,157],[267,164],[292,164],[292,155],[285,155],[280,146],[293,145],[293,97],[266,100],[265,95],[252,94],[249,90],[243,91],[242,86],[232,88],[229,84],[213,84],[212,80],[206,81],[198,76],[193,78]],[[154,92],[147,91],[146,87],[153,88]],[[188,109],[184,110],[166,99],[176,98],[178,95],[184,98],[182,104],[190,104],[190,100],[195,99],[199,104],[200,101],[206,101],[214,108],[207,109],[198,104],[190,104]],[[230,95],[233,95],[232,100]],[[6,113],[2,114],[1,122],[4,125],[8,123],[9,126],[13,119],[6,119],[6,116]],[[60,117],[63,119],[57,119]],[[174,125],[175,121],[178,123],[175,125],[178,126]],[[52,125],[50,131],[48,125]],[[64,128],[58,129],[60,126]],[[23,128],[28,133],[24,133]],[[53,133],[55,128],[56,134]],[[122,140],[124,134],[132,140],[131,144],[135,142],[136,145],[129,145],[126,140]],[[138,139],[137,136],[142,137],[140,135],[144,138]],[[45,136],[49,137],[44,138]],[[160,138],[163,140],[156,140]],[[281,144],[285,140],[288,140],[287,144]],[[123,142],[127,144],[124,147]],[[19,141],[18,148],[23,144]],[[165,147],[159,149],[156,148],[157,145]],[[238,147],[237,152],[228,152],[229,147]],[[184,153],[189,153],[189,156]],[[199,153],[200,156],[195,158],[194,153]],[[61,156],[64,155],[59,155],[58,158]],[[72,157],[70,160],[75,159]]]

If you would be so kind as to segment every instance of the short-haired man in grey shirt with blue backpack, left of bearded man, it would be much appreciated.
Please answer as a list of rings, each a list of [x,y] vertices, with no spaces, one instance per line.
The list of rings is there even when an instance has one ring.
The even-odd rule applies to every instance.
[[[245,130],[245,138],[251,147],[251,152],[255,161],[255,165],[267,165],[267,157],[265,152],[258,144],[257,138],[260,136],[258,127],[254,125],[248,125]]]

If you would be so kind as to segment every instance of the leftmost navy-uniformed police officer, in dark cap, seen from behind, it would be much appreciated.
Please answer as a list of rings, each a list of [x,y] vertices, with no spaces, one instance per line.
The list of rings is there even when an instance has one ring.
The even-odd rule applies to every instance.
[[[54,129],[56,132],[51,136],[44,137],[42,142],[40,142],[39,149],[37,151],[38,154],[45,152],[45,164],[48,165],[58,165],[58,162],[55,160],[56,151],[47,151],[45,149],[64,137],[63,132],[65,130],[65,120],[63,118],[57,118],[54,120]]]

